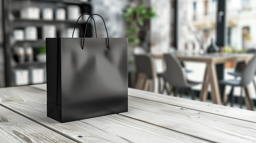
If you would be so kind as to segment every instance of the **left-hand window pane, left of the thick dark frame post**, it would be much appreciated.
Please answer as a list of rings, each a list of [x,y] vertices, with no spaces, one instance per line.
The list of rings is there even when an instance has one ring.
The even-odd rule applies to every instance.
[[[216,0],[179,0],[179,51],[200,53],[216,40]]]

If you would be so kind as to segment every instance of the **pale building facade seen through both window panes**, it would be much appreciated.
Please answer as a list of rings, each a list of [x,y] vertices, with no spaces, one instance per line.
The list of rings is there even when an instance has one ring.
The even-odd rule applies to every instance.
[[[216,40],[216,0],[180,0],[179,50],[198,52]],[[227,0],[226,46],[235,51],[256,47],[256,0]],[[194,46],[193,46],[194,45]]]

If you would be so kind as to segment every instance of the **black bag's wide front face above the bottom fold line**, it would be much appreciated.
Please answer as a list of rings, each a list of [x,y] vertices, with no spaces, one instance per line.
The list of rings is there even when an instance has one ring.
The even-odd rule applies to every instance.
[[[127,97],[127,38],[60,39],[62,105]]]

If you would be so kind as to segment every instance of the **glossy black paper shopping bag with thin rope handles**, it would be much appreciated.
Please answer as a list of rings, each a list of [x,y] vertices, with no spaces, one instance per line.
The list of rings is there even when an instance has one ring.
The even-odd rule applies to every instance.
[[[127,38],[46,38],[47,117],[63,123],[126,112],[127,50]]]

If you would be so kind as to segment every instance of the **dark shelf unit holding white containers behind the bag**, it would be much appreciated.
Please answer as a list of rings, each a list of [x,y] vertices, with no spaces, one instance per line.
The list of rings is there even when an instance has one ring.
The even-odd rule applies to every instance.
[[[76,21],[59,21],[59,20],[30,20],[20,18],[20,9],[24,7],[38,7],[40,13],[43,8],[52,8],[55,12],[56,8],[67,8],[68,5],[77,5],[81,9],[81,13],[91,13],[92,6],[90,1],[84,2],[82,0],[2,0],[2,21],[3,21],[3,37],[4,37],[4,74],[5,74],[5,86],[15,86],[13,79],[13,70],[15,68],[36,68],[46,67],[45,62],[36,61],[31,63],[16,63],[13,59],[13,48],[15,46],[31,46],[36,54],[36,49],[41,46],[45,46],[45,40],[42,39],[42,26],[51,24],[56,26],[56,35],[61,37],[61,32],[67,28],[75,26]],[[66,9],[66,13],[67,13]],[[67,16],[66,16],[67,18]],[[79,21],[77,28],[79,28],[79,36],[83,37],[85,31],[85,21]],[[25,29],[26,26],[36,26],[38,30],[38,40],[36,41],[14,41],[12,38],[14,29]],[[92,36],[92,24],[88,23],[88,31],[86,37]]]

